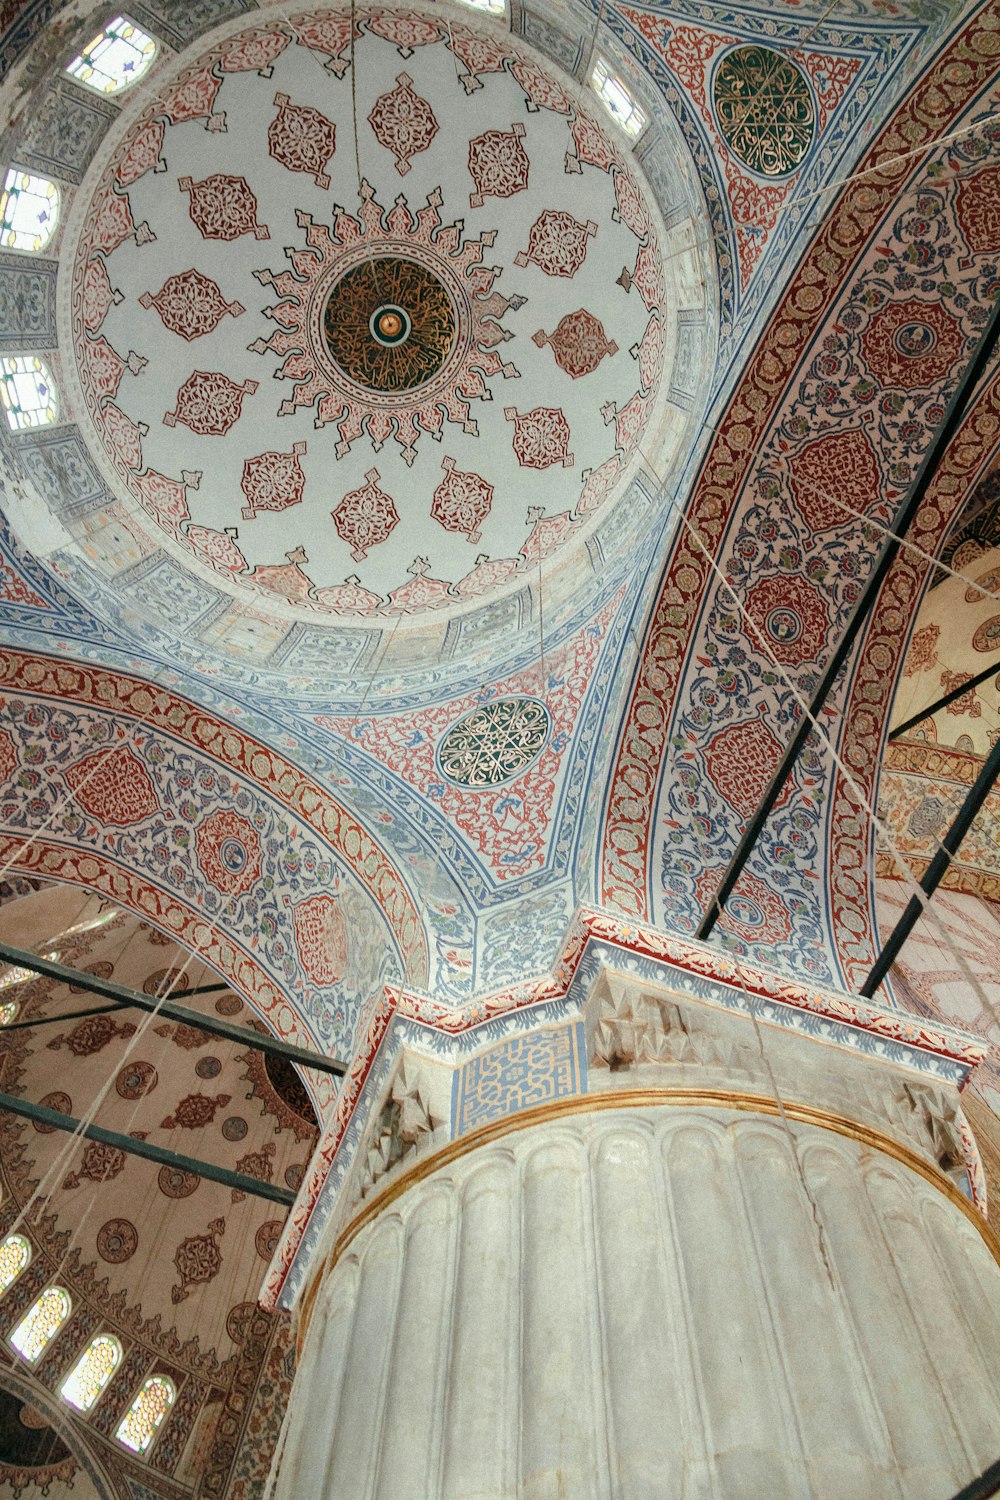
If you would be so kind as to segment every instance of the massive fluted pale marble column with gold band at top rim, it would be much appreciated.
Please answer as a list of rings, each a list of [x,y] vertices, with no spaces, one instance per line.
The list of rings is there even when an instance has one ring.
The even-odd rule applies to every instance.
[[[619,1089],[348,1224],[277,1496],[949,1500],[999,1452],[1000,1270],[942,1173],[843,1118]]]

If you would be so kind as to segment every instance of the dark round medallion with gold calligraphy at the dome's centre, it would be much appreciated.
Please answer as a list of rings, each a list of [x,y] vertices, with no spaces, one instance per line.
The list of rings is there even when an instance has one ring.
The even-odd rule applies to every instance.
[[[441,370],[454,346],[456,316],[448,292],[426,266],[372,256],[334,285],[322,333],[337,366],[358,386],[402,392]]]

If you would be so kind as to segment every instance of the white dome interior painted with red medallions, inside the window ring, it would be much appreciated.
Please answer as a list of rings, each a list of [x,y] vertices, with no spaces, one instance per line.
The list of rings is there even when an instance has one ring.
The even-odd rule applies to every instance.
[[[213,38],[126,100],[67,228],[67,405],[132,530],[312,621],[558,570],[679,453],[693,252],[624,138],[489,22]]]

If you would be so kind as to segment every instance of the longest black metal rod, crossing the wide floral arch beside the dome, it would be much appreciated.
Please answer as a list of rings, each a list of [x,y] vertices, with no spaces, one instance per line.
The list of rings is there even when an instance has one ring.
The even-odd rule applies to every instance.
[[[739,874],[744,866],[747,864],[747,860],[750,858],[754,844],[757,843],[760,834],[763,832],[763,826],[768,822],[768,818],[771,816],[774,804],[778,801],[781,789],[784,788],[784,783],[789,780],[792,768],[795,762],[799,759],[802,747],[805,746],[805,741],[808,740],[813,730],[813,722],[819,718],[820,712],[823,711],[826,699],[829,698],[834,684],[840,676],[841,668],[847,662],[847,657],[853,650],[855,640],[861,634],[861,628],[874,608],[876,598],[879,597],[879,591],[885,582],[885,578],[892,564],[895,562],[900,548],[903,546],[903,543],[898,542],[897,537],[903,537],[906,534],[921,504],[924,502],[924,496],[927,495],[927,490],[930,489],[931,482],[937,472],[937,466],[942,458],[945,456],[945,452],[948,450],[948,444],[952,441],[955,432],[958,430],[961,420],[966,414],[966,408],[976,388],[976,384],[979,382],[979,378],[982,376],[987,364],[990,363],[993,351],[997,346],[999,336],[1000,336],[1000,297],[993,304],[993,310],[990,314],[987,327],[982,332],[979,344],[976,345],[973,356],[969,360],[969,364],[963,370],[961,380],[955,387],[955,392],[948,404],[945,416],[942,417],[942,422],[937,430],[934,432],[934,436],[931,438],[931,444],[927,453],[924,454],[924,460],[919,470],[916,471],[916,477],[910,484],[907,495],[904,495],[901,504],[898,506],[895,516],[892,518],[889,530],[895,532],[895,536],[888,537],[886,542],[883,543],[882,550],[876,558],[876,564],[868,578],[865,579],[865,586],[862,588],[858,602],[849,615],[847,624],[844,627],[844,634],[837,644],[834,654],[826,663],[823,675],[820,676],[816,688],[813,690],[813,698],[810,699],[808,712],[802,714],[799,726],[792,735],[792,740],[789,741],[786,752],[781,756],[781,760],[778,762],[778,768],[775,770],[774,776],[771,777],[771,782],[768,783],[766,792],[763,794],[760,802],[757,804],[757,808],[753,813],[750,822],[744,828],[742,837],[736,844],[736,850],[733,852],[733,856],[729,861],[729,866],[726,867],[726,874],[723,876],[721,884],[715,896],[712,897],[712,903],[705,916],[702,918],[702,921],[699,922],[696,936],[700,938],[702,940],[705,940],[711,934],[712,928],[715,927],[715,922],[723,915],[723,908],[726,906],[726,902],[732,896],[733,886],[736,885],[736,880],[739,879]]]

